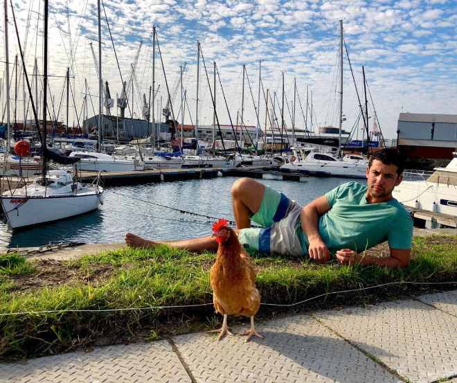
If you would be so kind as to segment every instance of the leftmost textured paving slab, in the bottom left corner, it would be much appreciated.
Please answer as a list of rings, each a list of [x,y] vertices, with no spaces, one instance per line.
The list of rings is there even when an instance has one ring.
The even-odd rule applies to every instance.
[[[0,382],[191,383],[168,341],[96,348],[0,364]]]

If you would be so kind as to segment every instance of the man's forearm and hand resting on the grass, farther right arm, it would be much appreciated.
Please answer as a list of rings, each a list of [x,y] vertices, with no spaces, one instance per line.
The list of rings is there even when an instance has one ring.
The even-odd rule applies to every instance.
[[[411,249],[393,249],[389,247],[391,255],[384,258],[364,256],[363,253],[357,254],[350,249],[337,251],[337,258],[341,265],[354,265],[359,263],[361,266],[376,265],[379,267],[408,267]]]

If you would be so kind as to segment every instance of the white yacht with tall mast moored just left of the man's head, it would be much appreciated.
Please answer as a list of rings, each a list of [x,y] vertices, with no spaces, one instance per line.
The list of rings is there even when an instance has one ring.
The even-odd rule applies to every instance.
[[[340,94],[339,94],[339,150],[341,153],[341,125],[343,123],[343,20],[340,23]],[[298,161],[297,161],[298,160]],[[332,153],[320,153],[312,150],[306,157],[299,159],[292,156],[288,163],[280,167],[281,170],[313,173],[335,177],[365,178],[368,161],[346,161]]]

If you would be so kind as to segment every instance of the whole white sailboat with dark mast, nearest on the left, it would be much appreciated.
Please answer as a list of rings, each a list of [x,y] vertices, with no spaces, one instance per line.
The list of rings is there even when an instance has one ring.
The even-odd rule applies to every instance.
[[[100,5],[99,5],[100,7]],[[5,10],[6,11],[6,10]],[[14,11],[13,11],[14,17]],[[11,189],[1,194],[0,203],[12,229],[34,224],[42,224],[62,218],[73,217],[87,213],[97,208],[103,202],[103,188],[97,184],[84,185],[75,181],[64,170],[47,171],[47,157],[51,151],[46,148],[46,97],[47,97],[47,74],[48,74],[48,0],[44,0],[44,75],[43,75],[43,134],[39,133],[43,148],[42,177],[38,177],[32,184],[22,187],[20,190]],[[19,51],[21,52],[24,74],[27,80],[30,102],[35,116],[35,122],[39,127],[37,111],[33,103],[30,83],[28,82],[24,54],[18,39]],[[18,153],[24,155],[26,153]],[[23,179],[24,180],[24,179]]]

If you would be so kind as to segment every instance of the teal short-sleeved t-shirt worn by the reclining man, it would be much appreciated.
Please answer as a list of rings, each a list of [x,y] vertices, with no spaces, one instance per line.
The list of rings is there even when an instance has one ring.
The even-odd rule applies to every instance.
[[[331,253],[365,249],[388,241],[393,249],[410,249],[413,220],[405,208],[392,198],[378,204],[368,204],[368,188],[358,182],[348,182],[330,190],[325,197],[330,210],[319,217],[319,234]],[[303,249],[310,243],[300,228]]]

